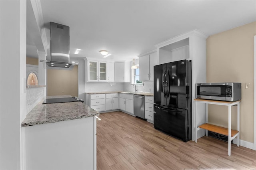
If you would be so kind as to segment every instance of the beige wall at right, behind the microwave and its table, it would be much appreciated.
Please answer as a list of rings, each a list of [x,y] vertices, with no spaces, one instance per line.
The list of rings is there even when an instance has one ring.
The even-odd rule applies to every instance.
[[[256,22],[246,24],[209,36],[206,40],[206,76],[207,82],[242,83],[242,101],[240,104],[240,139],[254,142],[254,36]],[[245,83],[251,83],[245,89]],[[210,106],[210,123],[228,127],[228,108]],[[232,108],[232,128],[236,129],[236,107]]]

